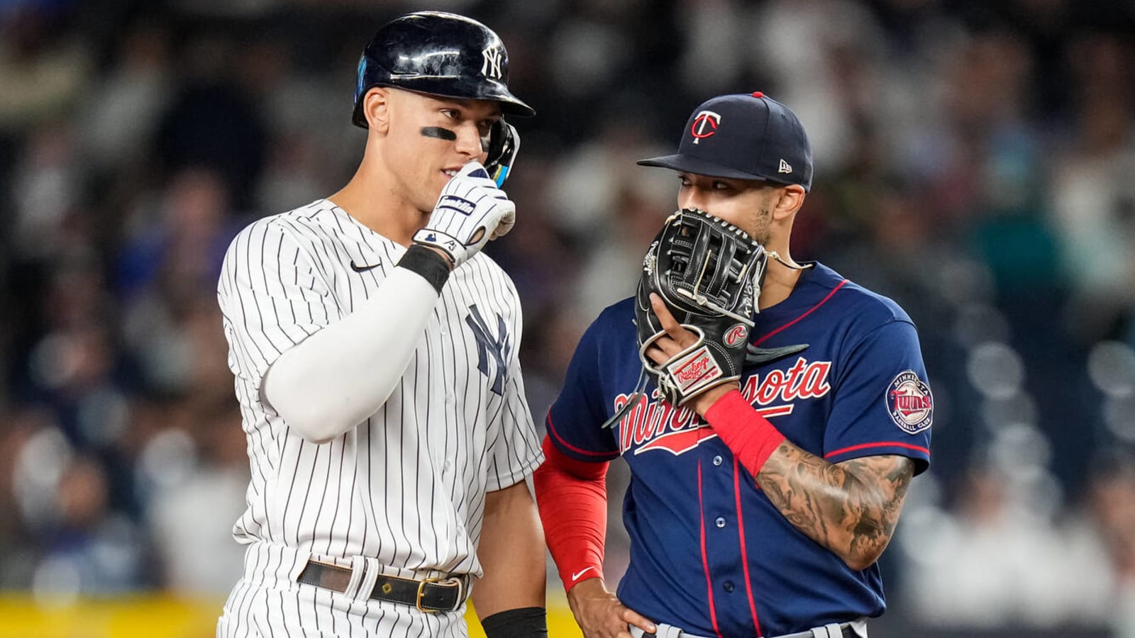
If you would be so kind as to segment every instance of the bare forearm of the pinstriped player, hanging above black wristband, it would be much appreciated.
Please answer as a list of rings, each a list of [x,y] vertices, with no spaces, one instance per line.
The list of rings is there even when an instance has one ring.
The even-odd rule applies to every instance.
[[[544,547],[540,519],[524,481],[486,495],[477,547],[485,576],[472,594],[479,619],[507,610],[545,606]]]

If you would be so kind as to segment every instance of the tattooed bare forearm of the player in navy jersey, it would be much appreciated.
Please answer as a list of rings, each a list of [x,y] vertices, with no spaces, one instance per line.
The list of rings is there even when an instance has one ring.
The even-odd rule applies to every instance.
[[[874,563],[894,534],[914,463],[865,456],[832,464],[784,442],[757,485],[797,529],[852,569]]]

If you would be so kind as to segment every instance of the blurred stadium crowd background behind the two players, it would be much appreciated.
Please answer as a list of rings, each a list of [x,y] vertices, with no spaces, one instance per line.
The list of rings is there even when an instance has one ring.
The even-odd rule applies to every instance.
[[[0,0],[0,635],[211,633],[249,473],[220,259],[348,179],[358,57],[418,9],[496,30],[538,111],[488,249],[538,422],[674,208],[634,160],[764,91],[814,146],[792,255],[906,308],[938,408],[872,635],[1135,637],[1132,0]]]

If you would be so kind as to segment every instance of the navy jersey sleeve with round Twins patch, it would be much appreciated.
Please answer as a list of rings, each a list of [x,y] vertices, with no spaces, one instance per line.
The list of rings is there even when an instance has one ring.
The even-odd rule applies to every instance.
[[[930,467],[934,400],[914,325],[896,320],[872,330],[852,346],[835,383],[826,460],[898,454],[915,460],[915,473]]]

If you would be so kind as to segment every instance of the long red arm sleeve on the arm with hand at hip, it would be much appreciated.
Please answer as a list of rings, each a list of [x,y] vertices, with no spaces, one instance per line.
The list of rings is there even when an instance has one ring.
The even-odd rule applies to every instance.
[[[564,590],[603,577],[607,532],[607,465],[577,461],[544,437],[545,461],[532,475],[544,538]]]

